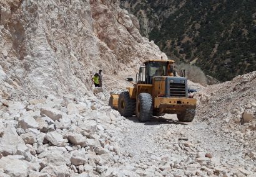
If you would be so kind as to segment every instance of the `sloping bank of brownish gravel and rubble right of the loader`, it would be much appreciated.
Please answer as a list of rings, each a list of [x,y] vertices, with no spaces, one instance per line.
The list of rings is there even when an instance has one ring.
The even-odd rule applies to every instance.
[[[196,94],[197,122],[204,126],[202,142],[212,143],[215,155],[230,166],[230,175],[256,174],[256,71],[232,81],[208,86]],[[204,139],[208,138],[208,139]],[[237,172],[238,171],[238,172]]]

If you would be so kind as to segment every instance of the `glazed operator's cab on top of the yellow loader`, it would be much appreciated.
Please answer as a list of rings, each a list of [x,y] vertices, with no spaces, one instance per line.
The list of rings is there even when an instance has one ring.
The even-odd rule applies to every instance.
[[[139,69],[137,83],[152,84],[156,76],[175,76],[174,60],[149,60],[145,61]]]

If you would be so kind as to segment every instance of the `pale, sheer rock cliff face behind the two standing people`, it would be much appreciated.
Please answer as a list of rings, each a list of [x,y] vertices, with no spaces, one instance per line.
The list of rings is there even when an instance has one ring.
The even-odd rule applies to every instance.
[[[141,37],[134,16],[119,1],[0,1],[0,73],[6,98],[46,93],[91,93],[99,69],[134,73],[145,59],[160,58]],[[107,87],[107,85],[105,85]]]

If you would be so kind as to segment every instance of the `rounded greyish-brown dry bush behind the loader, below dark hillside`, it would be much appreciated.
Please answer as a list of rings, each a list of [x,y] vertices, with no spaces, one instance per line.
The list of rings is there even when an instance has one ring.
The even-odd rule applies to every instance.
[[[176,66],[177,74],[180,75],[180,71],[185,70],[185,77],[194,83],[199,83],[202,85],[207,84],[207,78],[204,72],[195,65],[189,65],[185,63],[180,63]]]

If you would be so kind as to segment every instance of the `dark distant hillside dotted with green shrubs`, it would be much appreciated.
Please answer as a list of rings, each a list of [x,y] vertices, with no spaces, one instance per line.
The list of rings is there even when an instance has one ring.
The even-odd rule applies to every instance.
[[[256,69],[255,1],[121,1],[140,32],[221,81]]]

